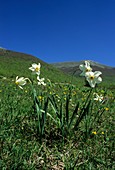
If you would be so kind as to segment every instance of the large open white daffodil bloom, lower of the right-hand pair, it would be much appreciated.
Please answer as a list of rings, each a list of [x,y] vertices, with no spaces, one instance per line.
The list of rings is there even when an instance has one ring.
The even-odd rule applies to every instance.
[[[96,84],[102,82],[102,78],[100,77],[102,73],[100,71],[95,72],[86,72],[85,77],[91,87],[95,87]]]

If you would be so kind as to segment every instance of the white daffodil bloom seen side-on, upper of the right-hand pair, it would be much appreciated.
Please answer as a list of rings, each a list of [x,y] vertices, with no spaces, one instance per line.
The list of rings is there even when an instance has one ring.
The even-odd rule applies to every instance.
[[[89,61],[85,61],[85,64],[81,64],[79,66],[79,69],[82,71],[80,76],[85,76],[86,72],[92,71],[92,68],[90,67],[90,62]]]

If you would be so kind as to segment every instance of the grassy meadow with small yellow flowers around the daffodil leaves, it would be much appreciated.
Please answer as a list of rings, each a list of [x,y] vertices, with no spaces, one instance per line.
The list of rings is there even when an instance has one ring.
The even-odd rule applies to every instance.
[[[39,106],[43,109],[46,99],[53,96],[58,112],[63,109],[65,114],[67,97],[70,95],[68,106],[70,117],[79,102],[79,110],[74,119],[76,121],[84,107],[89,88],[66,84],[52,86],[53,88],[37,87]],[[71,127],[70,131],[67,131],[65,126],[65,134],[62,134],[59,124],[53,121],[52,117],[56,121],[59,118],[49,104],[47,111],[52,117],[47,116],[41,138],[37,132],[38,118],[29,84],[21,90],[17,89],[11,80],[1,80],[1,169],[114,169],[114,95],[110,90],[105,91],[103,88],[97,90],[107,98],[107,101],[103,104],[92,101],[93,106],[90,106],[87,115],[89,117],[86,118],[85,115],[75,130]],[[104,109],[102,115],[99,109]],[[94,119],[95,114],[98,116]],[[87,131],[86,126],[89,126]]]

